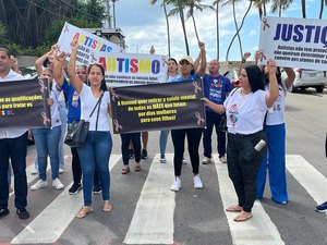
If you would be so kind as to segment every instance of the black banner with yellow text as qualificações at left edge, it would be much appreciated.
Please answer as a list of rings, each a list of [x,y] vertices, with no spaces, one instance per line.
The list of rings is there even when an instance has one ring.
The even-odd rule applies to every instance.
[[[47,81],[0,83],[0,127],[51,126]]]

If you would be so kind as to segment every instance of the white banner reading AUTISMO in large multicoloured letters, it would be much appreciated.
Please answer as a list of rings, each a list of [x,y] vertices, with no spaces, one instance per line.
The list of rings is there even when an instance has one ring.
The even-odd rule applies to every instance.
[[[124,52],[94,52],[94,63],[105,68],[106,82],[109,86],[167,82],[167,56]]]

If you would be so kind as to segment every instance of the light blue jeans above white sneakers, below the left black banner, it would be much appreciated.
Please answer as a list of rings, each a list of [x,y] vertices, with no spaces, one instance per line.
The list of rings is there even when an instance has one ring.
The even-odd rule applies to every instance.
[[[39,180],[47,180],[48,156],[50,157],[52,180],[57,179],[59,173],[58,144],[61,134],[61,126],[55,126],[52,128],[33,128],[32,132],[37,152]]]

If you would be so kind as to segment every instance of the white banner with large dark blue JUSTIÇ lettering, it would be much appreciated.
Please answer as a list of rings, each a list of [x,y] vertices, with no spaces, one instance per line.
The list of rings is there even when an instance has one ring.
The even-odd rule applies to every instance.
[[[259,63],[275,59],[279,66],[326,70],[327,21],[263,17]]]

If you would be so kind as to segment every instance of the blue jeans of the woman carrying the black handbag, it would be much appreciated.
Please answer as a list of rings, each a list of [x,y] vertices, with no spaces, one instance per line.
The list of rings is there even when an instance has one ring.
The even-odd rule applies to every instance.
[[[111,149],[112,138],[109,131],[89,131],[85,146],[77,148],[83,174],[83,197],[85,206],[90,206],[92,204],[95,168],[100,179],[102,199],[110,199],[109,158]]]

